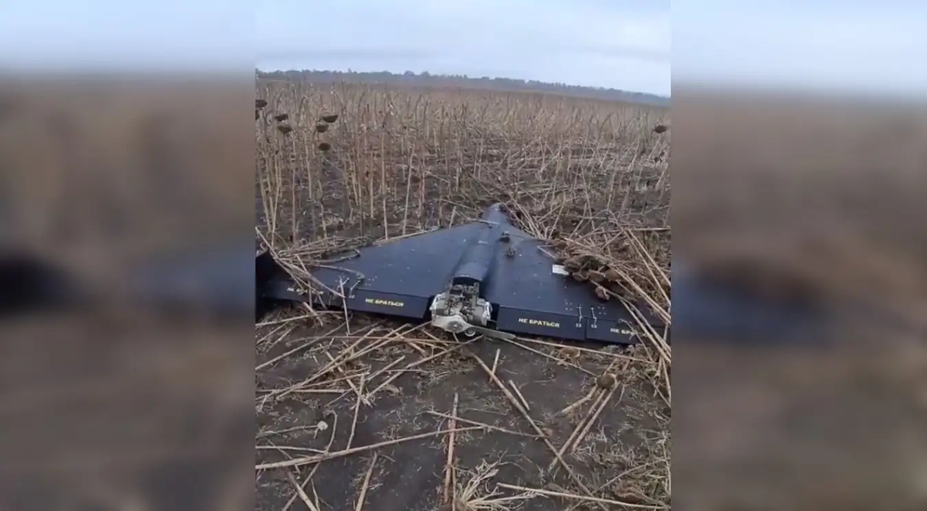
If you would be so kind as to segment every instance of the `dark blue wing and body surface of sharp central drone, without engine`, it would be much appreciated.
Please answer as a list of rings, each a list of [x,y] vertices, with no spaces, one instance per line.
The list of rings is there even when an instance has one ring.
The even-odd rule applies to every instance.
[[[416,319],[426,318],[431,299],[451,279],[480,280],[500,330],[633,342],[634,321],[624,306],[599,300],[588,283],[558,272],[550,251],[517,229],[502,206],[489,207],[482,220],[363,248],[338,268],[317,268],[312,276],[349,291],[351,310]]]

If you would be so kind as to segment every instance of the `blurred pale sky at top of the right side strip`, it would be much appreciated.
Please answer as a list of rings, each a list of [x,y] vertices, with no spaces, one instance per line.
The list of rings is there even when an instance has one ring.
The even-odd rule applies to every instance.
[[[673,2],[673,78],[927,95],[927,2]]]

